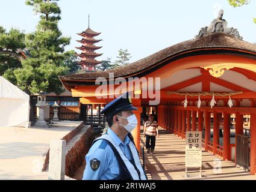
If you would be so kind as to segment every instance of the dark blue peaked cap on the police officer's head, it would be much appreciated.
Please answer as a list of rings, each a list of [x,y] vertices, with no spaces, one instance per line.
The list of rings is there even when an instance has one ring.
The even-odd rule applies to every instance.
[[[126,110],[137,110],[137,108],[131,104],[131,95],[129,92],[126,92],[125,94],[108,103],[101,111],[101,114],[105,114],[105,116],[111,116]]]

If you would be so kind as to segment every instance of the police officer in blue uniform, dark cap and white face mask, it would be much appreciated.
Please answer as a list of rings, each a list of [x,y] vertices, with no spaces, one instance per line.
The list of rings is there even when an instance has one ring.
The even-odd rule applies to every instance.
[[[94,140],[86,155],[83,180],[146,180],[131,131],[137,126],[128,92],[101,111],[109,125],[107,134]]]

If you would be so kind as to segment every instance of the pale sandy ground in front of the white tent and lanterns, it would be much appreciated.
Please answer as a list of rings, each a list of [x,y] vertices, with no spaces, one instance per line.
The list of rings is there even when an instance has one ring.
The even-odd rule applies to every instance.
[[[48,179],[41,172],[49,143],[61,139],[81,122],[63,121],[52,128],[0,127],[0,179]]]

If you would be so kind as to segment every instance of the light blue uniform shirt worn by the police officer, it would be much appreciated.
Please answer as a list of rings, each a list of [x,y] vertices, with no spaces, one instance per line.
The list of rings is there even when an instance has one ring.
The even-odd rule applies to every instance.
[[[129,137],[126,135],[124,142],[122,142],[110,128],[108,128],[107,134],[110,135],[117,146],[120,146],[123,154],[131,160],[132,154],[128,147],[131,142]],[[95,158],[100,163],[98,169],[93,170],[90,161]],[[119,176],[119,164],[113,150],[104,140],[96,141],[86,155],[86,169],[84,170],[83,180],[108,180],[117,178],[117,176]]]

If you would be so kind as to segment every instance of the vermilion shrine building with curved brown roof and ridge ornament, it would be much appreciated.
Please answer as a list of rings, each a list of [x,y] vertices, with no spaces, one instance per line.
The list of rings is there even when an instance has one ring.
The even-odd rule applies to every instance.
[[[95,85],[97,77],[108,79],[109,73],[114,73],[114,79],[160,77],[161,102],[155,106],[158,124],[183,138],[187,130],[204,130],[205,150],[222,156],[224,160],[231,160],[231,148],[236,146],[230,143],[231,115],[236,116],[236,137],[243,135],[243,115],[248,115],[251,134],[249,163],[251,174],[255,174],[256,44],[243,41],[237,29],[228,28],[222,14],[220,12],[219,17],[210,26],[202,28],[192,40],[170,46],[130,65],[109,71],[70,74],[61,76],[60,80],[73,97],[82,97],[81,103],[106,104],[112,99],[98,99],[95,95],[99,86]],[[142,89],[133,91],[140,96],[133,99],[133,105],[139,109],[135,114],[140,122],[142,107],[149,106],[149,98],[142,97]],[[213,95],[216,104],[211,106]],[[202,103],[198,107],[199,96]],[[187,107],[183,103],[186,97]],[[222,124],[223,145],[220,145]],[[211,126],[213,140],[210,140]],[[133,135],[139,148],[140,125]]]

